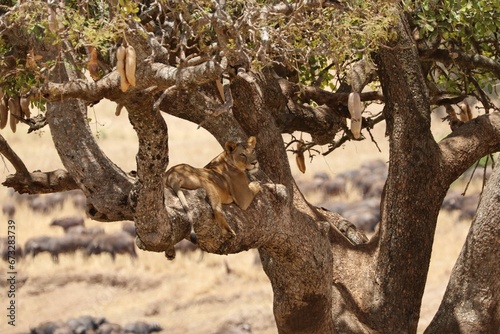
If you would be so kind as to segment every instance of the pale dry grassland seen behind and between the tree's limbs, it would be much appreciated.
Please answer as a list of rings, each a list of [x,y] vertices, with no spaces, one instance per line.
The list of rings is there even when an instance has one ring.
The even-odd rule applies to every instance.
[[[101,102],[91,110],[91,127],[108,156],[126,171],[135,169],[136,136],[126,113],[115,117],[114,105]],[[438,127],[439,121],[436,122]],[[220,145],[196,125],[168,118],[171,164],[187,162],[202,166],[220,151]],[[25,160],[29,170],[49,171],[61,168],[52,147],[48,129],[41,134],[26,135],[23,126],[13,135],[2,131],[13,149]],[[291,157],[298,178],[310,178],[314,172],[330,175],[358,167],[363,161],[387,160],[388,145],[384,129],[374,131],[382,152],[369,140],[349,143],[328,157],[317,156],[308,163],[301,175]],[[446,134],[446,127],[436,132]],[[8,162],[0,164],[0,181],[13,173]],[[299,175],[300,174],[300,175]],[[0,203],[8,200],[7,190],[0,187]],[[56,235],[62,232],[50,228],[53,218],[80,214],[70,203],[62,211],[50,215],[34,214],[19,207],[15,215],[16,237],[22,245],[33,236]],[[439,218],[435,248],[425,291],[421,328],[429,323],[439,306],[441,296],[456,257],[468,230],[468,223],[456,222],[457,217],[443,214]],[[89,219],[88,226],[104,226],[106,231],[120,228],[120,223],[98,223]],[[7,218],[0,213],[0,236],[7,231]],[[132,262],[118,256],[112,262],[108,256],[84,259],[81,254],[62,255],[60,264],[51,262],[48,255],[24,259],[16,264],[16,327],[7,325],[2,314],[0,333],[24,333],[40,322],[67,320],[80,315],[105,316],[109,321],[124,325],[129,321],[157,322],[165,333],[214,333],[224,323],[246,322],[253,333],[276,333],[272,315],[272,289],[259,264],[257,252],[251,250],[237,255],[217,256],[199,254],[167,261],[162,254],[139,251]],[[0,288],[6,290],[6,265],[0,263]],[[1,306],[7,307],[6,291],[1,292]]]

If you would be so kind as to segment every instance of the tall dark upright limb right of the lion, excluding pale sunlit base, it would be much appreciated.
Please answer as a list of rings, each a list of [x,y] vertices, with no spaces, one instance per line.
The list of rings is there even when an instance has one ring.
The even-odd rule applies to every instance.
[[[367,316],[372,324],[383,324],[380,331],[414,332],[435,224],[448,185],[440,185],[435,177],[439,150],[430,130],[429,95],[404,14],[400,13],[395,29],[398,43],[394,48],[381,48],[377,55],[386,97],[390,162],[372,268],[383,282],[373,282],[378,288]],[[406,302],[398,305],[397,300]]]

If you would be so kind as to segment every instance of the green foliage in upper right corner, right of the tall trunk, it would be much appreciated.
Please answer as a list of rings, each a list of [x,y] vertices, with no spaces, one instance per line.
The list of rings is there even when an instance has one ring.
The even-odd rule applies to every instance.
[[[446,50],[449,62],[437,62],[429,71],[429,80],[441,91],[473,94],[485,100],[484,91],[494,93],[494,72],[456,61],[460,55],[481,55],[493,62],[500,56],[498,13],[500,3],[481,1],[405,1],[418,38]]]

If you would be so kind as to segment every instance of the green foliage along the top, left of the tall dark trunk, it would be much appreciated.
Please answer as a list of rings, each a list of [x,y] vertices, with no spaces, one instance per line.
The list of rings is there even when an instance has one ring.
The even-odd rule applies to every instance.
[[[85,47],[96,47],[112,66],[108,53],[128,23],[140,22],[140,15],[155,6],[158,14],[143,22],[144,28],[175,55],[171,59],[177,60],[171,65],[197,55],[217,57],[221,53],[241,63],[244,54],[245,62],[256,70],[273,63],[300,70],[306,84],[322,74],[322,87],[330,89],[335,88],[333,77],[325,68],[334,64],[342,70],[353,59],[376,50],[391,38],[395,19],[393,7],[373,0],[346,1],[342,7],[237,0],[227,1],[224,8],[207,0],[154,4],[119,0],[116,7],[107,1],[68,0],[64,5],[31,1],[12,7],[6,17],[11,27],[24,27],[26,36],[58,45],[61,59],[68,61],[68,53],[72,54],[70,62],[82,72],[88,57]],[[41,72],[51,70],[47,64],[38,67]],[[27,87],[34,84],[25,83]]]

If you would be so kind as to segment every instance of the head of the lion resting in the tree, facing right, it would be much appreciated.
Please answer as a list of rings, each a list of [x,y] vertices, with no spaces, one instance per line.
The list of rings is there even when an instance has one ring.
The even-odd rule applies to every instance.
[[[228,163],[240,171],[255,173],[259,169],[259,162],[255,155],[257,139],[251,136],[246,143],[226,142],[225,150]]]

